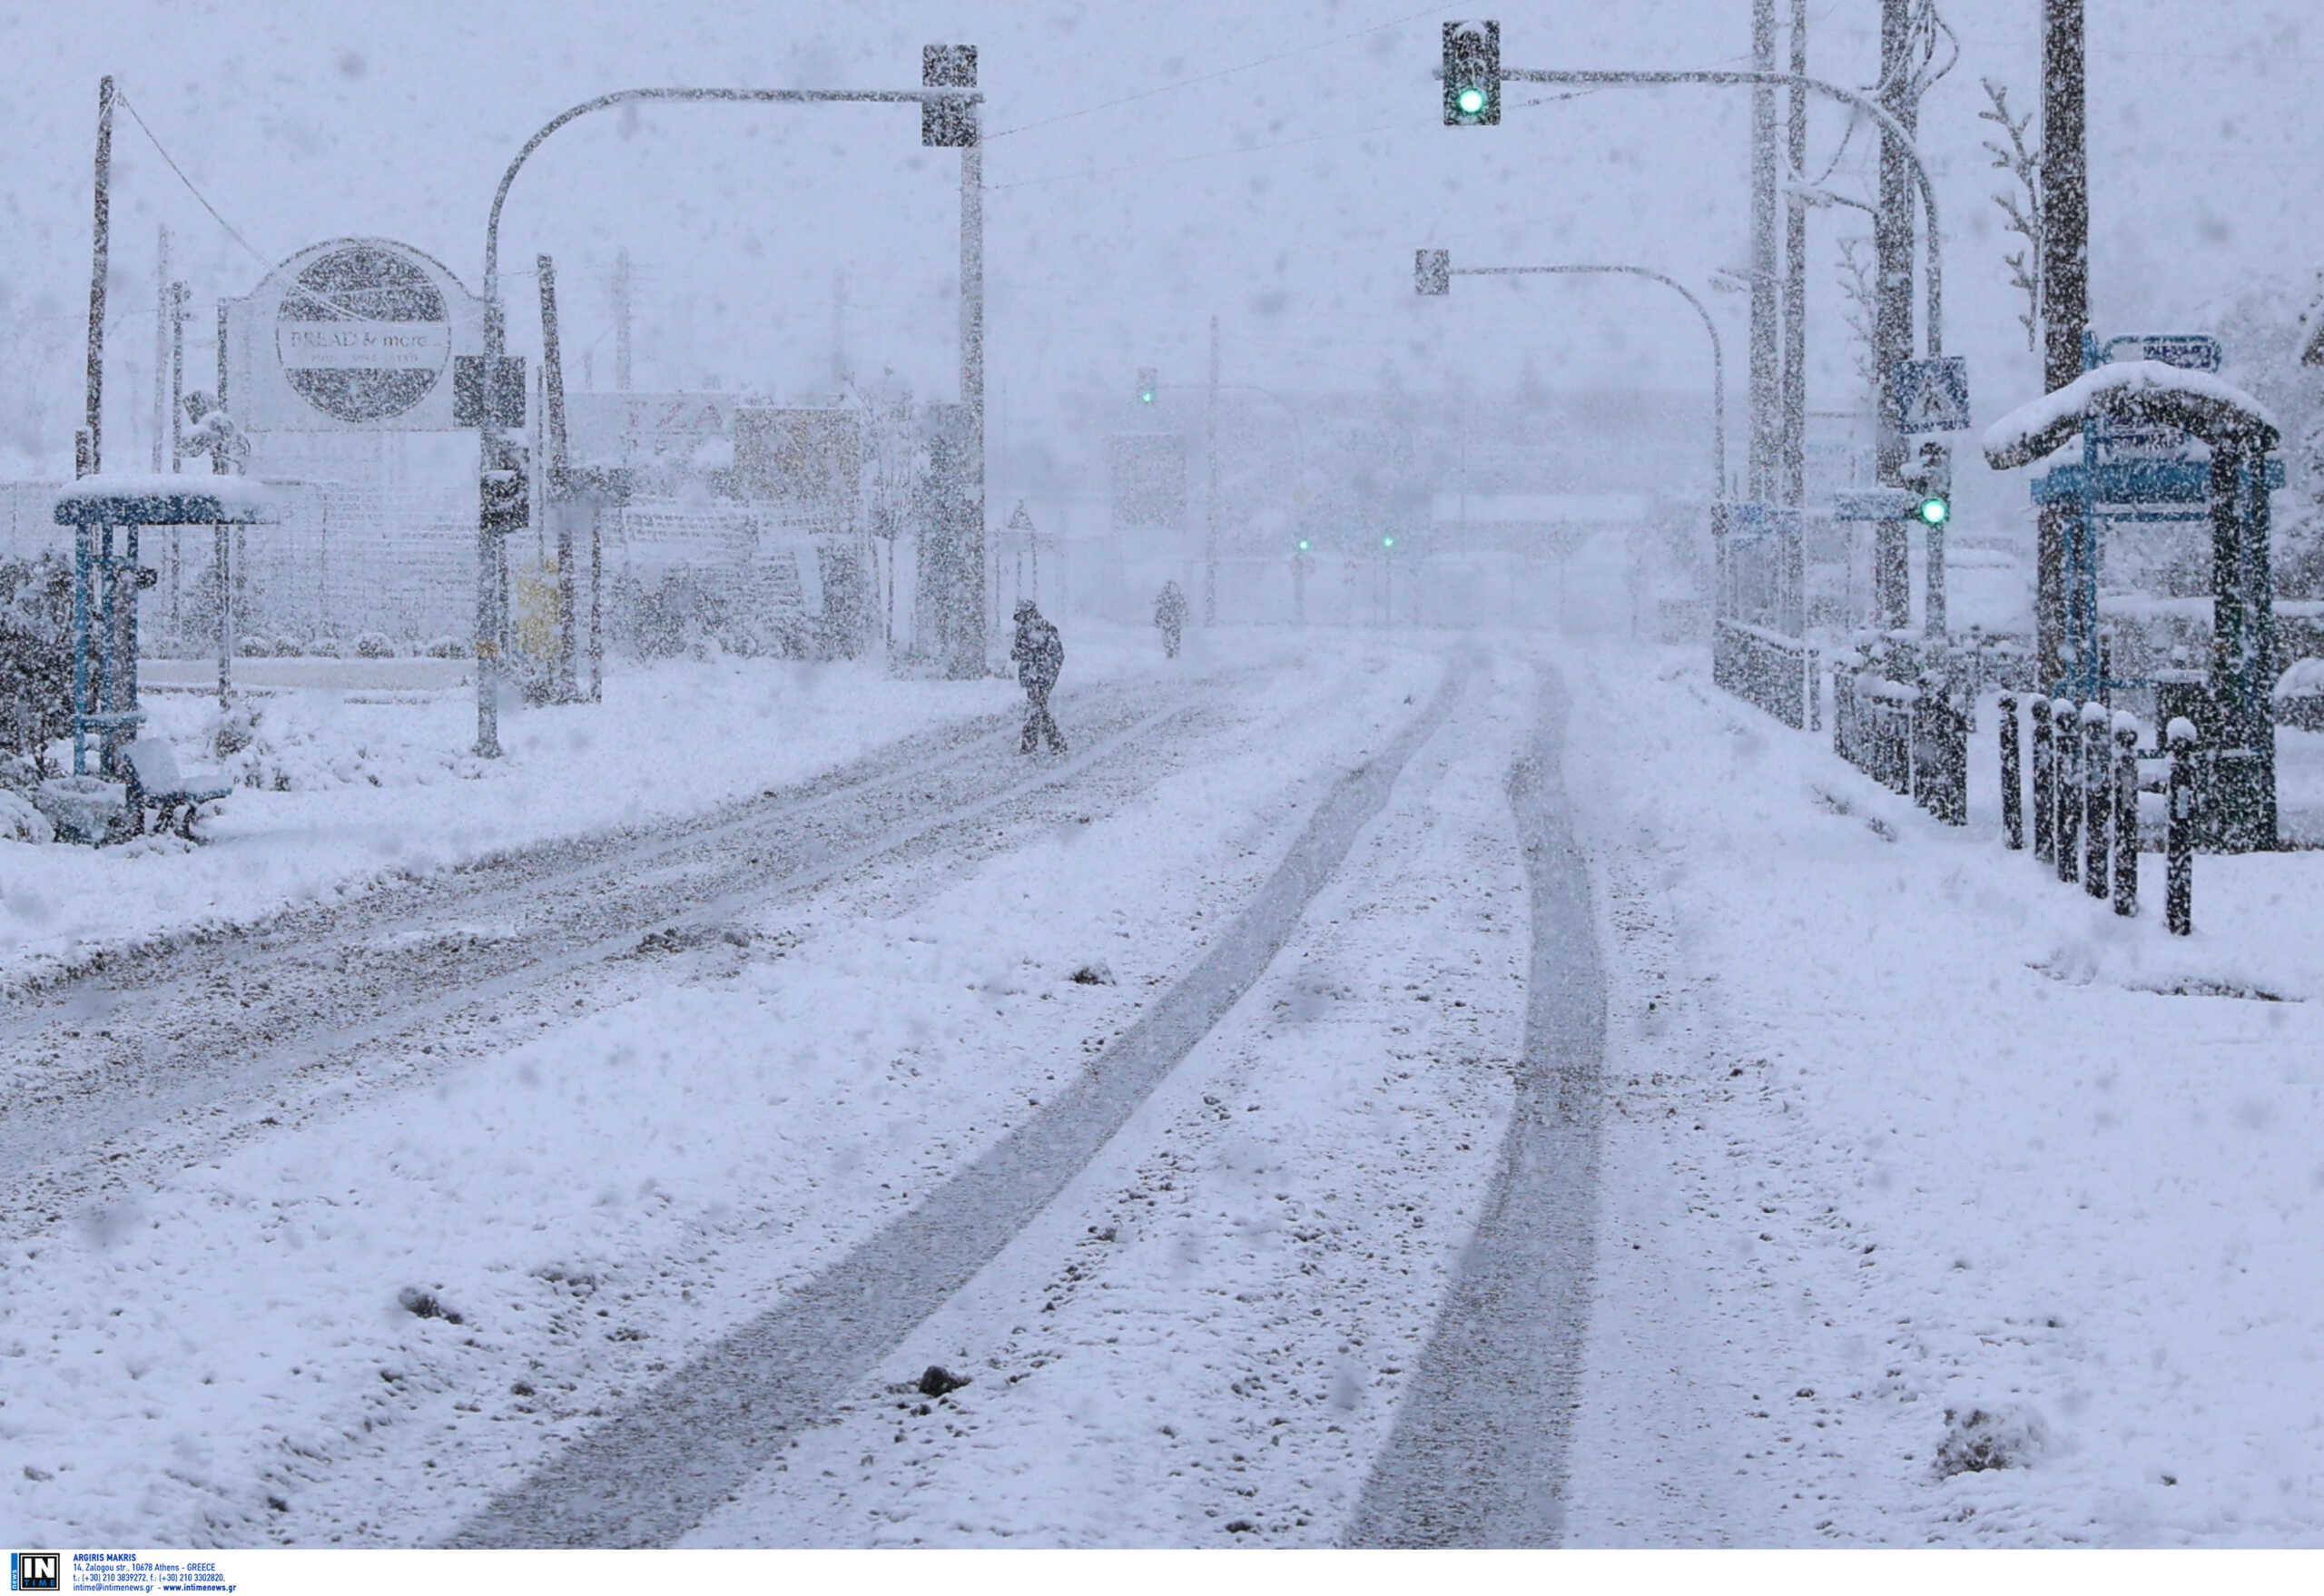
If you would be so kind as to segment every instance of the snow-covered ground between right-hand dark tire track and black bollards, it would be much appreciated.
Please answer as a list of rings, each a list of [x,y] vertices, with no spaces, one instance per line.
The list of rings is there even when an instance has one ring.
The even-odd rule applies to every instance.
[[[2117,920],[2003,850],[1982,762],[1938,827],[1645,664],[1573,667],[1615,983],[1576,1543],[2324,1543],[2324,857],[2199,860],[2175,941],[2152,855]]]

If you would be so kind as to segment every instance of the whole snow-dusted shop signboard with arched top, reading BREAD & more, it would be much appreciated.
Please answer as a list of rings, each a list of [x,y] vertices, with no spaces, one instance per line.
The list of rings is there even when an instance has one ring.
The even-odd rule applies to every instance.
[[[449,432],[483,304],[407,244],[332,239],[228,300],[225,344],[228,409],[251,432]]]

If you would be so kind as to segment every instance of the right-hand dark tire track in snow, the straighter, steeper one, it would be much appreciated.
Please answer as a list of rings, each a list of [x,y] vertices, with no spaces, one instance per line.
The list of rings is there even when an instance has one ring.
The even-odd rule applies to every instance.
[[[1525,1073],[1501,1166],[1348,1529],[1350,1547],[1545,1547],[1564,1482],[1597,1264],[1606,980],[1590,869],[1566,820],[1564,683],[1541,671],[1511,771],[1534,913]]]

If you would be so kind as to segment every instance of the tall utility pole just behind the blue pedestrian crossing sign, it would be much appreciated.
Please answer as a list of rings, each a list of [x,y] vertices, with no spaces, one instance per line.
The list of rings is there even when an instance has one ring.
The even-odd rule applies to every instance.
[[[1880,414],[1873,418],[1880,439],[1873,455],[1873,481],[1903,483],[1903,434],[1896,430],[1896,367],[1913,358],[1913,170],[1910,135],[1920,100],[1913,93],[1913,16],[1910,0],[1880,0],[1880,109],[1906,137],[1882,130],[1880,137],[1880,209],[1873,216],[1873,269],[1880,276],[1873,311],[1873,374],[1880,383]],[[1882,630],[1901,630],[1913,620],[1913,567],[1906,520],[1873,523],[1873,609]]]

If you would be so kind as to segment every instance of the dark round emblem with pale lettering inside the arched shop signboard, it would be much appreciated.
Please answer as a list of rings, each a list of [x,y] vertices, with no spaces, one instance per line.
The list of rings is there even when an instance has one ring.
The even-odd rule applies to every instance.
[[[274,314],[284,376],[335,420],[386,420],[428,397],[451,362],[451,316],[430,272],[388,244],[316,256]]]

